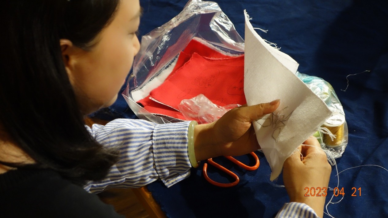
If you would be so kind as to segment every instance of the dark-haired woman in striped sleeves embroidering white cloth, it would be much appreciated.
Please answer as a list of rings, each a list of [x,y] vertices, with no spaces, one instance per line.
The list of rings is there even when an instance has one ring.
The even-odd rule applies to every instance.
[[[251,122],[279,106],[236,108],[204,125],[85,127],[84,115],[116,100],[139,51],[139,1],[10,0],[0,10],[0,217],[120,217],[88,192],[156,179],[169,187],[197,161],[257,150]],[[303,161],[297,152],[284,165],[294,203],[279,216],[323,215],[325,198],[306,199],[304,188],[327,187],[331,168],[316,139],[305,143]]]

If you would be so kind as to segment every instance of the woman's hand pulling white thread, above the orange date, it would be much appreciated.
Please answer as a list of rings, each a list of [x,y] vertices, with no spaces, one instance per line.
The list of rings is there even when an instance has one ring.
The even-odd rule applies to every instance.
[[[326,195],[329,194],[331,165],[327,162],[326,153],[320,148],[318,140],[313,136],[308,138],[304,145],[299,146],[298,150],[284,162],[284,186],[286,186],[291,202],[305,203],[314,209],[319,217],[322,217]],[[326,191],[326,195],[305,196],[306,187],[308,190],[313,187],[315,190],[320,188],[320,194]]]

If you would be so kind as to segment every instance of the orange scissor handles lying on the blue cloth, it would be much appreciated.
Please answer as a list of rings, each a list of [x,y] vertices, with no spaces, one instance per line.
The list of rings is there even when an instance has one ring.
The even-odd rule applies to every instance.
[[[255,162],[256,162],[256,164],[254,166],[252,166],[252,167],[251,166],[247,166],[247,165],[239,162],[238,160],[236,160],[233,157],[230,157],[230,156],[224,156],[224,157],[228,158],[230,161],[232,161],[233,163],[237,164],[238,166],[240,166],[243,169],[250,170],[250,171],[256,170],[259,167],[259,165],[260,165],[259,158],[257,157],[257,155],[254,152],[251,152],[249,154],[252,155],[253,158],[255,158]],[[202,173],[203,173],[203,176],[205,177],[205,179],[208,182],[210,182],[210,184],[215,185],[215,186],[219,186],[219,187],[225,187],[225,188],[226,187],[233,187],[233,186],[236,186],[237,184],[239,184],[240,178],[236,174],[234,174],[232,171],[230,171],[230,170],[226,169],[225,167],[217,164],[216,162],[213,161],[212,158],[208,159],[208,163],[210,165],[213,165],[214,167],[217,167],[218,169],[222,170],[223,172],[229,174],[230,176],[232,176],[235,179],[235,181],[231,182],[231,183],[220,183],[220,182],[215,182],[215,181],[211,180],[209,178],[209,176],[208,176],[208,171],[207,171],[208,170],[208,164],[205,163],[203,165]]]

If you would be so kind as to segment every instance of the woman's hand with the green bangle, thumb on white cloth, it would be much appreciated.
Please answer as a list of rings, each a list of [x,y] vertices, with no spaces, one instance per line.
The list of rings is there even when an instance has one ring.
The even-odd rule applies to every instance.
[[[241,106],[225,113],[213,123],[197,125],[194,150],[197,161],[217,156],[239,156],[260,148],[252,122],[274,112],[280,100]]]

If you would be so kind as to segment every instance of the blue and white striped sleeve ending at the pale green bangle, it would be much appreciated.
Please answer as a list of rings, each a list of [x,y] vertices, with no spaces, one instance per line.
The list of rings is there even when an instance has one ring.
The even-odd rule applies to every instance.
[[[102,145],[117,147],[118,162],[106,178],[89,181],[84,189],[98,193],[108,187],[142,187],[161,179],[170,187],[189,177],[187,131],[190,122],[155,124],[141,119],[115,119],[87,127]]]

